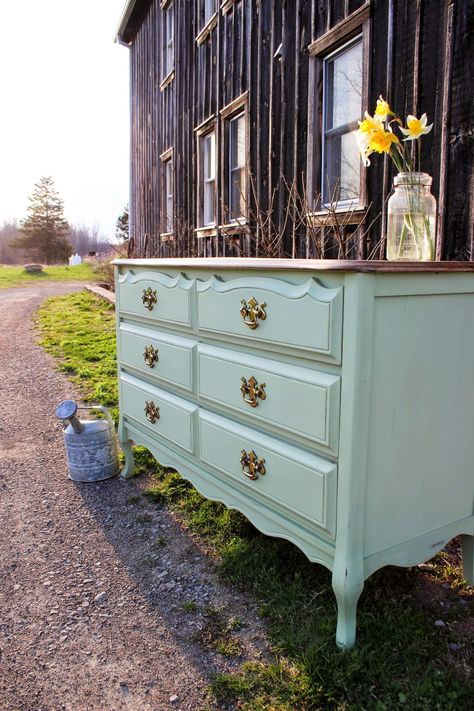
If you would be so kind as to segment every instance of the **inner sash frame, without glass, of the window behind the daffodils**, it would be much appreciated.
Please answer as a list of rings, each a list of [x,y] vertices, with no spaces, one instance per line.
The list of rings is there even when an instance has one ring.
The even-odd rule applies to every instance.
[[[364,38],[362,33],[359,33],[349,39],[347,42],[344,44],[338,46],[336,49],[334,49],[332,52],[329,52],[328,54],[325,54],[324,57],[322,57],[322,126],[321,126],[321,207],[325,208],[331,205],[331,195],[326,195],[325,191],[327,190],[327,185],[326,185],[326,175],[325,175],[325,161],[327,157],[327,152],[328,152],[328,147],[327,147],[327,140],[328,138],[331,138],[332,136],[344,136],[348,133],[352,133],[352,131],[355,131],[357,129],[357,118],[354,119],[354,121],[351,121],[350,123],[345,123],[341,124],[340,126],[336,126],[335,128],[332,129],[327,129],[326,127],[326,121],[327,121],[327,109],[328,109],[328,63],[331,61],[334,61],[339,55],[343,54],[346,52],[348,49],[351,47],[355,46],[356,44],[360,44],[361,47],[361,54],[362,54],[362,76],[361,76],[361,107],[360,107],[360,118],[362,117],[362,111],[363,111],[363,53],[364,53]],[[343,130],[345,129],[345,130]],[[331,132],[331,133],[330,133]],[[328,135],[330,134],[330,135]],[[355,151],[357,151],[356,143],[354,140],[354,147]],[[340,177],[340,176],[339,176]],[[336,209],[337,210],[352,210],[354,208],[360,207],[361,205],[361,194],[363,192],[363,187],[362,187],[362,181],[363,181],[363,174],[362,174],[362,169],[360,168],[359,172],[359,188],[358,188],[358,194],[357,197],[355,198],[348,198],[348,199],[342,199],[342,200],[337,200],[336,202]]]

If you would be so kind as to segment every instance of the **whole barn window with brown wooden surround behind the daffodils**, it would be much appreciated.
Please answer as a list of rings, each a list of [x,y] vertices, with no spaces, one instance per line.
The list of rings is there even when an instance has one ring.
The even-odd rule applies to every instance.
[[[369,99],[371,8],[367,0],[308,45],[308,201],[325,220],[343,212],[347,225],[359,225],[368,204],[352,133]]]

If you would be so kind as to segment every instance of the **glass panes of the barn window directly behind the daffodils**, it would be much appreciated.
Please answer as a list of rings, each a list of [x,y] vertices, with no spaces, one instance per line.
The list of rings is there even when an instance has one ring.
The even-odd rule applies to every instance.
[[[324,60],[322,203],[358,203],[360,156],[352,135],[362,113],[362,38]]]

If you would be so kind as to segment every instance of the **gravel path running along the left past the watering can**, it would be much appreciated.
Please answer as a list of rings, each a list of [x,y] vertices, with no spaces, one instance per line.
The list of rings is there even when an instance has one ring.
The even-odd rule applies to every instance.
[[[0,291],[0,709],[215,709],[210,674],[266,656],[262,623],[139,480],[67,478],[54,410],[74,391],[32,316],[82,288]],[[232,617],[238,658],[213,643]]]

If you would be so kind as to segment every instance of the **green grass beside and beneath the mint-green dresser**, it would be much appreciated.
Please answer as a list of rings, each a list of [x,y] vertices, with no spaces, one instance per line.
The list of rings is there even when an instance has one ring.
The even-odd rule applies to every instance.
[[[91,295],[74,294],[45,304],[39,325],[45,347],[84,396],[116,407],[111,309]],[[147,450],[137,448],[136,460],[139,472],[153,471],[149,499],[174,510],[207,541],[222,576],[254,597],[266,621],[276,661],[215,676],[212,689],[223,707],[229,701],[241,711],[472,707],[474,593],[462,581],[455,544],[423,569],[384,568],[369,578],[358,608],[357,645],[342,653],[334,643],[336,604],[325,568],[310,564],[290,543],[263,536],[238,512],[204,499]],[[183,614],[190,611],[184,607]],[[235,620],[211,609],[204,614],[197,641],[238,659]],[[439,620],[445,626],[435,625]]]

